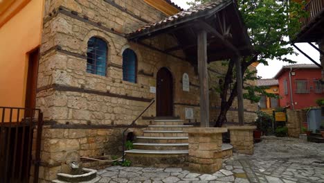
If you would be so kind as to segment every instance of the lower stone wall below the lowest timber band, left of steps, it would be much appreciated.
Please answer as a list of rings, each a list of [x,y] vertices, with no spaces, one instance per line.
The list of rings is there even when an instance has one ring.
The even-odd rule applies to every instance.
[[[122,132],[125,128],[51,129],[44,128],[39,180],[50,182],[57,173],[69,172],[69,164],[78,162],[85,168],[105,168],[107,162],[93,162],[81,157],[122,155]],[[141,133],[139,129],[135,134]]]

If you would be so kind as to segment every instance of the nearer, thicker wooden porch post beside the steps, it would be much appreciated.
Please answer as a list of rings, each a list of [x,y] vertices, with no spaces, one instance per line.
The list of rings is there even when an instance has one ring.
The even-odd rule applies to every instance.
[[[200,122],[202,128],[209,127],[209,87],[207,64],[207,33],[198,33],[198,72],[200,82]]]

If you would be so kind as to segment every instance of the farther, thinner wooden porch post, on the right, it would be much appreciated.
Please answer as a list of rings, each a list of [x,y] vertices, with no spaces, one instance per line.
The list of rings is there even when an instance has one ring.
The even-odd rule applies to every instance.
[[[244,103],[243,103],[243,80],[240,57],[236,55],[233,60],[236,64],[236,81],[237,81],[237,106],[239,124],[244,125]]]

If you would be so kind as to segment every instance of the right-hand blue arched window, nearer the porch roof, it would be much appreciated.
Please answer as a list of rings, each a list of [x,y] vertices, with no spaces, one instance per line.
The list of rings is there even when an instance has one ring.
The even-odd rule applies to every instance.
[[[123,52],[123,80],[136,83],[137,57],[131,49]]]

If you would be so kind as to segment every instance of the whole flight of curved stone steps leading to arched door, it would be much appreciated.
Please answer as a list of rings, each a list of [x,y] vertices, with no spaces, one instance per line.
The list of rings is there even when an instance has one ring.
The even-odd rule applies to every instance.
[[[155,120],[136,137],[134,149],[125,151],[133,166],[182,167],[188,165],[188,134],[179,119]]]

